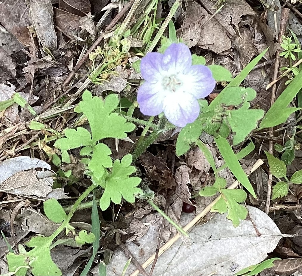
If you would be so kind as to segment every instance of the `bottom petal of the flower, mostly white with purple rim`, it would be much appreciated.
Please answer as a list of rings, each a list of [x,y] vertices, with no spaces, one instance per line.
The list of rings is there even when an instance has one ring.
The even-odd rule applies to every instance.
[[[164,99],[164,114],[176,127],[194,122],[200,112],[198,101],[190,93],[171,93]]]

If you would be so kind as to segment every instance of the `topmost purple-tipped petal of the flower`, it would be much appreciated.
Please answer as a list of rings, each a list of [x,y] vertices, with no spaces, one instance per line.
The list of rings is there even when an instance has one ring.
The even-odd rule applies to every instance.
[[[192,64],[191,52],[184,43],[172,43],[162,58],[162,69],[171,74],[188,72]]]

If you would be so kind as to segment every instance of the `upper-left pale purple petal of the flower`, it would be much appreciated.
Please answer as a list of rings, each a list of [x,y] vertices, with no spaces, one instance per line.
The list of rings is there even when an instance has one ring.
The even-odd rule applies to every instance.
[[[161,78],[163,54],[147,53],[140,62],[140,72],[147,82],[156,83]]]

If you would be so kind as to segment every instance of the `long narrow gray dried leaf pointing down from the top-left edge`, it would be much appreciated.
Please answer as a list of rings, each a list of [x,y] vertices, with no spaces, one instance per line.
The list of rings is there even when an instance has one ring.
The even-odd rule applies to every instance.
[[[56,49],[57,36],[53,26],[53,5],[51,0],[31,0],[30,16],[42,46]]]

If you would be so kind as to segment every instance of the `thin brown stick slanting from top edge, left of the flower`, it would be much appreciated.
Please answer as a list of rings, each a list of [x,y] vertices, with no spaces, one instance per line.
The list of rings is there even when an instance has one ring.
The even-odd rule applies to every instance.
[[[89,54],[94,51],[96,49],[96,47],[98,47],[98,45],[101,43],[101,41],[103,40],[105,34],[108,33],[108,31],[110,31],[116,24],[118,21],[120,21],[120,19],[124,16],[124,14],[126,13],[126,11],[128,11],[132,4],[133,4],[134,0],[131,0],[130,2],[128,2],[124,8],[121,9],[121,11],[117,14],[117,16],[110,22],[110,24],[105,28],[104,32],[98,37],[97,40],[95,40],[95,42],[93,43],[93,45],[89,48],[89,50],[85,53],[85,55],[82,57],[82,59],[78,62],[78,64],[75,66],[75,68],[72,70],[72,72],[70,72],[69,76],[67,77],[67,79],[63,82],[62,86],[65,87],[69,84],[69,82],[71,81],[71,79],[73,78],[73,76],[75,75],[75,73],[81,68],[81,66],[85,63],[85,61],[88,59]]]

